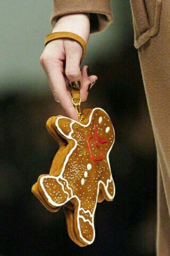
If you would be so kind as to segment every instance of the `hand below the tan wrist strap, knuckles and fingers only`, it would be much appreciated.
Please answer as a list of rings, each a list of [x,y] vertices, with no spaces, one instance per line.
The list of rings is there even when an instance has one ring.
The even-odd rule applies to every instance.
[[[55,101],[60,102],[67,116],[74,120],[78,120],[78,118],[71,101],[68,83],[80,81],[82,84],[80,97],[82,101],[86,101],[89,89],[98,79],[95,75],[89,76],[87,65],[80,69],[81,57],[82,47],[70,39],[58,39],[50,42],[40,57],[40,63],[47,75]],[[64,67],[65,60],[66,67]],[[64,75],[66,75],[65,78]]]

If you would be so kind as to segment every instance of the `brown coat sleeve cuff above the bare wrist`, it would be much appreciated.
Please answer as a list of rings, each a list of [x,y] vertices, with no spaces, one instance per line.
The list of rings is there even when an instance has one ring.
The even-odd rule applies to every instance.
[[[52,27],[60,16],[74,13],[90,13],[91,33],[106,29],[113,21],[110,0],[53,0]]]

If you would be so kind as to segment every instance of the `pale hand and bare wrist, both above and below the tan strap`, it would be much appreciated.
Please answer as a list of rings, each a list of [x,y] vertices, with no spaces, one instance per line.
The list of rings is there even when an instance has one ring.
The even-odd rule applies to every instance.
[[[88,14],[70,14],[62,16],[55,24],[52,32],[67,31],[80,35],[87,43],[90,36],[90,21]],[[88,66],[80,69],[82,46],[71,39],[56,39],[49,42],[40,56],[40,63],[47,75],[48,83],[68,117],[77,120],[77,114],[71,101],[69,82],[80,81],[80,97],[86,101],[88,90],[97,76],[88,76]]]

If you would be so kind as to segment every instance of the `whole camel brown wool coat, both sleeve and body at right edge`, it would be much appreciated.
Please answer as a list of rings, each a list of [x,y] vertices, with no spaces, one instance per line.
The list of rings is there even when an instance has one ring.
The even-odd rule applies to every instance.
[[[157,255],[170,256],[170,1],[130,0],[134,46],[157,147]],[[110,0],[54,0],[51,25],[60,16],[89,13],[91,33],[113,21]]]

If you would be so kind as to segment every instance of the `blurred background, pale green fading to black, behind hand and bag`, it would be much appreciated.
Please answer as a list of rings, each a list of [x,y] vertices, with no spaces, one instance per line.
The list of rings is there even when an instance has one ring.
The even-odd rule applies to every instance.
[[[51,32],[52,0],[0,1],[0,255],[154,256],[156,152],[129,1],[112,3],[114,23],[91,35],[83,64],[98,82],[83,108],[101,107],[115,127],[110,153],[116,195],[98,204],[96,238],[80,248],[67,234],[63,209],[47,211],[31,193],[48,173],[56,141],[46,120],[64,114],[39,64]]]

